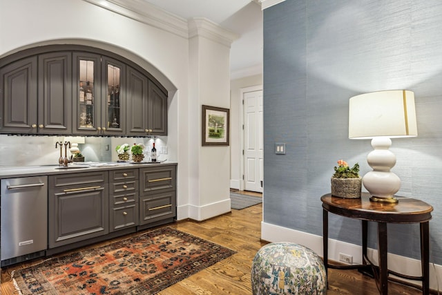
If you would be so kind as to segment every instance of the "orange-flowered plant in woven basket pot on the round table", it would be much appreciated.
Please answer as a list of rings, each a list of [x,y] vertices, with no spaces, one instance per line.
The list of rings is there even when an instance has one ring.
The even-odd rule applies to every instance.
[[[359,164],[352,168],[344,160],[338,160],[332,175],[332,196],[340,198],[361,198],[362,178],[359,176]]]

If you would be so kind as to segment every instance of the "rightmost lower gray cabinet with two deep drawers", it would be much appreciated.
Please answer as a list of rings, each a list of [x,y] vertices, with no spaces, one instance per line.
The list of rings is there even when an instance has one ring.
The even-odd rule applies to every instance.
[[[140,169],[140,226],[171,222],[176,217],[176,165]]]

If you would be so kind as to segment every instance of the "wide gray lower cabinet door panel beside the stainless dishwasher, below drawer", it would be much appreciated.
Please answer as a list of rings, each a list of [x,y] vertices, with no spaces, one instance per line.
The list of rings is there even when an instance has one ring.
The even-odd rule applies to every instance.
[[[105,187],[49,193],[49,248],[103,236],[109,232]]]

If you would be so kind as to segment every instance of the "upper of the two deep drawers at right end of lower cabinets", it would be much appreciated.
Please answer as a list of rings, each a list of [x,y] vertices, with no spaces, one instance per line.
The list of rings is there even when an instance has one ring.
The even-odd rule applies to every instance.
[[[142,193],[157,193],[160,190],[175,190],[175,166],[140,169]]]

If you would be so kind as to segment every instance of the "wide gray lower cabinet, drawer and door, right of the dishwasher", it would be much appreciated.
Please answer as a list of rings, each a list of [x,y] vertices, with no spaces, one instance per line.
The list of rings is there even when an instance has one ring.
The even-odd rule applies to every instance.
[[[49,176],[49,248],[109,232],[108,171]]]

